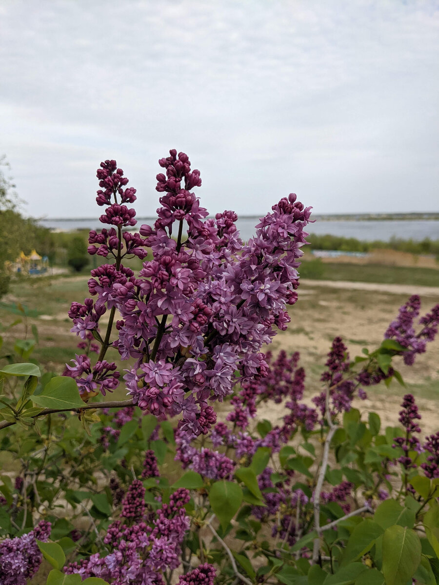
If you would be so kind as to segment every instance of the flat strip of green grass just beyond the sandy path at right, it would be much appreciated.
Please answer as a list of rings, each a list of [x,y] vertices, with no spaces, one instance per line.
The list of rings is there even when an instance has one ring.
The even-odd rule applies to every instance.
[[[380,264],[324,263],[318,260],[304,262],[300,276],[313,280],[347,280],[349,282],[411,284],[439,286],[439,271],[432,268],[382,266]]]

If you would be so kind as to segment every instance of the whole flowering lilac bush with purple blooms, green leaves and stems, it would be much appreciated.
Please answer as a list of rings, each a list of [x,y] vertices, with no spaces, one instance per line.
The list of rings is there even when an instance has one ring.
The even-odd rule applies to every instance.
[[[48,585],[433,583],[439,435],[421,439],[411,394],[401,426],[382,432],[354,401],[403,384],[397,359],[410,366],[426,351],[439,305],[419,318],[413,295],[378,349],[355,359],[336,337],[322,391],[307,400],[299,352],[263,349],[297,301],[310,208],[295,194],[280,199],[245,243],[234,212],[210,218],[200,206],[200,171],[186,154],[171,150],[159,164],[157,219],[133,233],[136,190],[116,161],[101,163],[97,204],[109,227],[90,232],[88,252],[106,261],[91,271],[90,298],[68,313],[84,353],[35,394],[34,364],[24,364],[22,397],[2,409],[0,428],[19,422],[32,433],[49,418],[15,483],[0,486],[11,517],[4,528],[0,514],[0,583],[35,574],[35,539],[49,538],[49,524],[32,530],[41,515],[62,553],[46,555]],[[128,400],[108,400],[121,387]],[[272,404],[282,405],[275,424],[261,415]],[[90,436],[71,431],[71,411]],[[60,498],[71,521],[54,514]],[[410,550],[397,549],[400,530]],[[395,555],[413,566],[395,573]]]

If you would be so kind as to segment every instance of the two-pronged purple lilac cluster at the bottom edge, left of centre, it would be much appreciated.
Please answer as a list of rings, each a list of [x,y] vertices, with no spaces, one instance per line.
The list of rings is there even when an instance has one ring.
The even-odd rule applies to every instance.
[[[140,486],[140,481],[133,481],[124,500],[121,517],[129,519],[129,524],[117,520],[108,527],[104,543],[111,552],[103,557],[95,553],[79,563],[70,563],[64,569],[67,574],[78,573],[83,579],[101,577],[111,583],[163,585],[163,572],[180,565],[181,542],[189,528],[184,510],[190,500],[188,490],[177,490],[170,503],[157,510],[149,525],[144,515],[145,505],[140,501],[145,490]],[[141,513],[134,510],[135,505],[141,508]],[[133,524],[132,520],[135,520]],[[210,575],[208,570],[204,573]],[[207,581],[200,576],[200,583],[204,585]]]

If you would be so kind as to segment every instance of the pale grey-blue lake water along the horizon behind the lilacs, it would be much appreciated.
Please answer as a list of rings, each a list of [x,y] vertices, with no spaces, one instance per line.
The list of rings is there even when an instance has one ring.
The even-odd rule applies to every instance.
[[[143,223],[153,223],[154,218],[138,218],[138,226]],[[39,222],[46,228],[56,230],[72,229],[102,229],[108,227],[99,222],[98,219],[42,219]],[[241,231],[241,237],[244,240],[251,238],[255,233],[255,225],[259,223],[256,217],[238,218],[236,225]],[[307,231],[324,235],[329,233],[334,236],[344,236],[345,238],[356,238],[371,242],[373,240],[382,240],[388,242],[393,237],[404,240],[431,240],[439,239],[439,221],[435,219],[413,219],[413,220],[392,220],[392,221],[373,221],[373,220],[339,220],[319,219],[307,226]]]

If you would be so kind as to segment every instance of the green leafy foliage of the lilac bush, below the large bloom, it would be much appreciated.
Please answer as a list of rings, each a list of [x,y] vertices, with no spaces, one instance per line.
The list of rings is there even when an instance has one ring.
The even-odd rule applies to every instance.
[[[168,503],[178,488],[190,490],[186,558],[213,563],[218,585],[230,585],[240,578],[224,543],[236,570],[255,585],[408,585],[412,579],[421,585],[437,583],[439,479],[429,479],[423,473],[420,464],[426,460],[425,453],[413,454],[414,467],[408,472],[397,463],[403,452],[393,445],[395,437],[402,436],[402,429],[386,427],[375,412],[351,408],[338,416],[331,441],[327,424],[317,431],[297,425],[293,444],[282,446],[279,453],[268,446],[259,447],[253,455],[236,459],[234,473],[227,479],[213,480],[181,469],[174,461],[175,425],[142,415],[138,408],[122,425],[111,413],[92,413],[87,435],[84,402],[74,380],[44,373],[31,361],[38,339],[33,329],[32,337],[16,340],[13,355],[0,363],[0,447],[2,457],[8,455],[14,462],[12,475],[23,480],[23,486],[16,487],[11,474],[0,472],[0,494],[7,507],[7,511],[0,507],[0,536],[11,538],[28,532],[42,517],[52,522],[52,541],[38,542],[46,563],[47,585],[105,585],[96,577],[81,581],[76,574],[66,575],[63,566],[96,552],[106,554],[101,539],[121,512],[111,481],[126,491],[133,477],[142,477],[145,450],[155,453],[160,472],[158,477],[142,479],[148,514],[153,515],[161,505],[158,499]],[[352,369],[366,364],[372,371],[390,371],[403,353],[398,343],[385,340],[374,351],[364,350]],[[23,356],[27,356],[26,361]],[[403,383],[400,374],[393,376]],[[64,412],[43,416],[44,408]],[[1,430],[5,424],[12,425],[7,432]],[[256,420],[251,433],[255,438],[266,438],[272,428],[269,421]],[[200,445],[208,445],[205,441],[208,439],[201,437]],[[322,457],[325,446],[331,462],[326,467]],[[225,447],[219,450],[224,452]],[[227,455],[233,456],[230,452]],[[268,465],[272,467],[273,487],[259,482]],[[342,481],[352,483],[354,497],[349,505],[354,515],[347,516],[336,501],[321,500],[316,525],[311,498],[321,473],[328,493]],[[379,500],[382,488],[389,491],[384,501]],[[297,490],[305,500],[292,506],[282,495],[279,512],[270,517],[269,498]],[[369,504],[359,514],[364,501]],[[66,502],[68,517],[59,518]],[[255,508],[260,512],[258,518],[252,513]],[[283,528],[287,534],[291,518],[296,517],[303,523],[291,543],[277,531]],[[73,540],[72,531],[77,526],[81,527],[80,541]],[[315,546],[318,554],[314,559]],[[50,572],[49,565],[53,567]],[[165,577],[170,582],[170,573]]]

